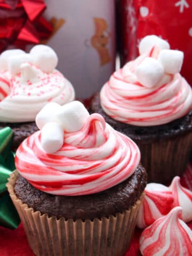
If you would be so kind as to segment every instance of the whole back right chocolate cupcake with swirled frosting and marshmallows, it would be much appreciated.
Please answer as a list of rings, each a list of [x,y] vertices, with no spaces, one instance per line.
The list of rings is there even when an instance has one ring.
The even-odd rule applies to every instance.
[[[185,171],[192,145],[192,90],[179,71],[183,53],[147,36],[140,56],[111,75],[91,102],[96,112],[133,139],[150,182],[167,183]]]

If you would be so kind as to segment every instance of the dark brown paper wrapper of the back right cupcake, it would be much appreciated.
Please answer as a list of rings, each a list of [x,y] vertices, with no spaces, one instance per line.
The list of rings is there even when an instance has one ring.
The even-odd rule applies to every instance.
[[[192,132],[153,143],[139,143],[141,163],[149,182],[169,183],[185,172],[192,145]]]

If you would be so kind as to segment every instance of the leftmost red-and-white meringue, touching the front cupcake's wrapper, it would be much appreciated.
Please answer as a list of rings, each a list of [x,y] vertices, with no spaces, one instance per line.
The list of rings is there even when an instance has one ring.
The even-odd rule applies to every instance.
[[[169,213],[173,207],[173,201],[173,194],[166,186],[158,183],[147,184],[137,216],[137,227],[146,228]]]

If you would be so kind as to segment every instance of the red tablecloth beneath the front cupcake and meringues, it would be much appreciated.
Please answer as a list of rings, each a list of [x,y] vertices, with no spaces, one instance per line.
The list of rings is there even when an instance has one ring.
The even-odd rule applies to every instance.
[[[182,186],[192,190],[192,165],[188,165],[181,178]],[[188,223],[192,229],[192,221]],[[125,256],[140,256],[139,237],[140,229],[136,228],[129,251]],[[0,256],[34,256],[27,242],[27,237],[22,224],[15,230],[0,227]]]

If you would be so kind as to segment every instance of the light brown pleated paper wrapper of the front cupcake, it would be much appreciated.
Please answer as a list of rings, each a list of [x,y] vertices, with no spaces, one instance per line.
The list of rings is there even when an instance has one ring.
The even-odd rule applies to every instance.
[[[18,172],[9,178],[7,188],[25,228],[29,245],[38,256],[123,256],[129,248],[141,198],[131,209],[108,218],[49,218],[34,212],[14,193]]]

